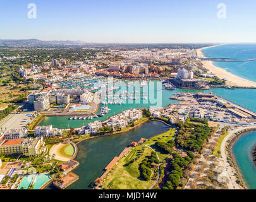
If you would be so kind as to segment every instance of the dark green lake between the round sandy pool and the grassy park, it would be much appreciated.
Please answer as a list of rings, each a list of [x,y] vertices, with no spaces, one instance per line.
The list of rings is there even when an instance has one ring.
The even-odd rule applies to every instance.
[[[101,177],[107,164],[132,141],[150,138],[168,130],[169,127],[162,122],[147,122],[128,133],[83,141],[78,144],[78,154],[75,158],[80,165],[73,170],[75,174],[79,175],[79,180],[68,189],[90,189],[88,187],[90,183],[94,182],[97,177]],[[54,189],[54,187],[50,185],[47,189]]]

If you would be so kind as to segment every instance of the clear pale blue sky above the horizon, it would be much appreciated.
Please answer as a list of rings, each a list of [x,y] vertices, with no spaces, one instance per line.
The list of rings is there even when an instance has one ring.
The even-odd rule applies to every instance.
[[[36,18],[28,18],[30,3]],[[255,11],[255,0],[1,0],[0,39],[256,42]]]

